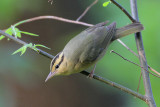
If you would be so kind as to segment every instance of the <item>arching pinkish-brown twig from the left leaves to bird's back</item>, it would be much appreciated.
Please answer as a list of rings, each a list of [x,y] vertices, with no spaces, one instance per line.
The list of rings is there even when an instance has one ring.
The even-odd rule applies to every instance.
[[[58,20],[58,21],[62,21],[62,22],[79,24],[79,25],[83,25],[83,26],[93,26],[93,24],[88,24],[88,23],[80,22],[80,21],[74,21],[74,20],[65,19],[65,18],[62,18],[62,17],[57,17],[57,16],[38,16],[38,17],[33,17],[33,18],[30,18],[30,19],[26,19],[26,20],[20,21],[18,23],[15,23],[13,26],[21,25],[21,24],[32,22],[32,21],[35,21],[35,20],[42,20],[42,19],[54,19],[54,20]]]

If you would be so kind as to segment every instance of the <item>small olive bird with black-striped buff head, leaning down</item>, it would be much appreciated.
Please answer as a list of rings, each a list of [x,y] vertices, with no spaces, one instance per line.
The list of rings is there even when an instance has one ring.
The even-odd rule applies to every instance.
[[[50,73],[45,81],[56,75],[69,75],[85,70],[105,55],[113,40],[143,30],[143,25],[138,22],[118,29],[115,22],[109,26],[105,24],[103,22],[89,27],[72,38],[51,61]]]

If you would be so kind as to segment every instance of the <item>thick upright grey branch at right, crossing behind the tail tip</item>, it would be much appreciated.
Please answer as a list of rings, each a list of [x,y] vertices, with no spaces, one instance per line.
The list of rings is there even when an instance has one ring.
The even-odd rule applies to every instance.
[[[130,5],[131,5],[131,11],[132,11],[133,17],[137,21],[139,21],[138,11],[137,11],[137,0],[130,0]],[[147,60],[146,60],[144,47],[143,47],[142,35],[140,32],[135,33],[135,39],[136,39],[136,45],[137,45],[137,51],[139,54],[140,64],[143,68],[148,69]],[[143,83],[145,88],[145,96],[148,99],[147,103],[150,107],[156,107],[156,103],[154,101],[153,94],[152,94],[149,73],[146,72],[144,69],[141,69],[141,72],[142,72]]]

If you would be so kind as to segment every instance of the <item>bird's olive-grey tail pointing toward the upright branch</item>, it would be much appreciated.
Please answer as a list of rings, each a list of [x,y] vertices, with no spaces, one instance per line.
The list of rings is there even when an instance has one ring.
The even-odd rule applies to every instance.
[[[123,36],[127,36],[127,35],[132,34],[132,33],[140,32],[143,29],[144,29],[143,25],[139,22],[135,22],[135,23],[129,24],[127,26],[117,28],[116,29],[116,34],[112,38],[112,41],[114,41],[118,38],[121,38]]]

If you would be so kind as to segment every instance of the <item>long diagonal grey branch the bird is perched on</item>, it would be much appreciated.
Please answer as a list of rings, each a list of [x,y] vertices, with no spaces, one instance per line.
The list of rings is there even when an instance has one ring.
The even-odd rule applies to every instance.
[[[15,38],[15,37],[13,37],[13,36],[5,33],[5,32],[2,31],[2,30],[0,30],[0,34],[6,36],[6,37],[8,37],[8,38],[10,38],[11,40],[13,40],[13,41],[15,41],[15,42],[17,42],[17,43],[19,43],[19,44],[21,44],[21,45],[26,45],[26,44],[27,44],[26,42],[24,42],[24,41],[22,41],[22,40],[20,40],[20,39],[17,39],[17,38]],[[32,48],[31,48],[31,49],[32,49]],[[34,50],[34,49],[32,49],[32,50]],[[53,59],[53,57],[54,57],[54,56],[50,55],[49,53],[47,53],[47,52],[45,52],[45,51],[43,51],[43,50],[40,50],[40,49],[37,49],[37,50],[38,50],[38,53],[39,53],[40,55],[43,55],[43,56],[45,56],[45,57],[47,57],[47,58],[49,58],[49,59]],[[34,50],[34,51],[35,51],[35,50]],[[36,51],[36,52],[37,52],[37,51]],[[88,76],[90,73],[87,72],[87,71],[82,71],[81,74]],[[95,80],[98,80],[98,81],[102,82],[102,83],[105,83],[105,84],[108,84],[108,85],[110,85],[110,86],[112,86],[112,87],[118,88],[118,89],[120,89],[120,90],[122,90],[122,91],[124,91],[124,92],[126,92],[126,93],[128,93],[128,94],[131,94],[131,95],[133,95],[133,96],[135,96],[135,97],[137,97],[137,98],[139,98],[139,99],[141,99],[141,100],[143,100],[143,101],[145,101],[145,102],[147,101],[147,98],[146,98],[144,95],[139,94],[139,93],[137,93],[136,91],[133,91],[133,90],[131,90],[131,89],[127,88],[127,87],[124,87],[124,86],[122,86],[122,85],[120,85],[120,84],[117,84],[117,83],[115,83],[115,82],[112,82],[112,81],[110,81],[110,80],[108,80],[108,79],[104,79],[104,78],[102,78],[102,77],[100,77],[100,76],[97,76],[97,75],[93,75],[93,78],[94,78]]]

